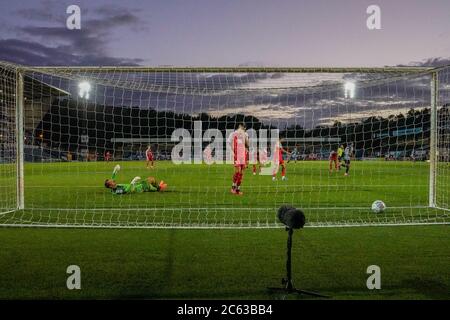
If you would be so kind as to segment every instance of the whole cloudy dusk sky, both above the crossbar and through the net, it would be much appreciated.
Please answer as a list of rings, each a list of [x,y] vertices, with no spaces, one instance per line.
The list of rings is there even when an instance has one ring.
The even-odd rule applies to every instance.
[[[81,30],[66,27],[70,5],[81,9]],[[370,5],[381,9],[381,30],[367,27]],[[2,0],[0,60],[93,66],[442,66],[450,64],[450,1]],[[195,82],[209,77],[197,75]],[[215,77],[216,85],[228,82],[240,86],[244,79],[232,74]],[[442,84],[447,88],[448,73],[445,77]],[[113,100],[118,106],[139,103],[175,112],[216,116],[245,113],[276,125],[298,123],[306,127],[388,116],[429,107],[430,101],[427,79],[357,88],[357,99],[351,102],[341,90],[348,81],[344,74],[303,80],[296,75],[274,78],[265,74],[245,79],[253,88],[280,83],[300,88],[331,81],[337,91],[331,96],[327,92],[316,94],[309,100],[300,90],[275,94],[262,90],[254,95],[216,92],[208,100],[204,95],[180,95],[167,89],[155,93],[152,89],[146,90],[147,100],[140,96],[139,100],[124,101],[124,94],[116,90]],[[75,89],[77,81],[74,79]],[[125,84],[129,85],[133,84]],[[187,100],[191,101],[189,106]]]

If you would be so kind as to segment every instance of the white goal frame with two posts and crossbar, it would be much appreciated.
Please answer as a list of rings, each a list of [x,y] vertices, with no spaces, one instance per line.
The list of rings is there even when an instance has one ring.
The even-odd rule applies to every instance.
[[[0,61],[1,62],[1,61]],[[366,73],[366,74],[418,74],[431,77],[430,101],[430,166],[429,166],[429,208],[442,209],[436,203],[437,172],[437,112],[439,104],[439,70],[445,67],[146,67],[146,66],[15,66],[16,72],[16,162],[17,162],[17,205],[16,210],[26,209],[24,194],[24,78],[28,72],[52,73],[58,70],[70,72],[179,72],[179,73]],[[373,225],[373,224],[371,224]],[[384,225],[384,224],[382,224]],[[386,224],[392,225],[392,224]],[[86,227],[86,226],[84,226]]]

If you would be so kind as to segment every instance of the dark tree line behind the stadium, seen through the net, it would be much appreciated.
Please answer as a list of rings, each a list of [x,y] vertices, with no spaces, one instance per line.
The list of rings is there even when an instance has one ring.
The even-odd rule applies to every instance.
[[[438,110],[438,135],[441,136],[448,136],[450,132],[449,106],[444,105]],[[278,129],[280,137],[289,141],[285,146],[291,150],[297,147],[299,154],[303,155],[302,160],[309,159],[311,154],[318,159],[323,158],[338,145],[350,142],[354,144],[356,158],[400,159],[415,152],[419,155],[418,160],[426,160],[430,144],[430,118],[430,108],[423,108],[388,117],[371,116],[355,122],[335,121],[332,125],[319,125],[311,129],[299,124]],[[170,159],[173,144],[152,141],[170,138],[177,128],[192,132],[195,121],[202,121],[203,130],[219,129],[223,134],[239,123],[244,123],[247,129],[277,129],[252,115],[213,117],[207,113],[189,115],[98,104],[80,107],[70,99],[55,99],[35,129],[26,132],[26,145],[60,152],[61,158],[70,153],[73,160],[86,160],[81,159],[81,149],[95,155],[96,160],[101,160],[108,151],[115,158],[137,160],[147,145],[151,145],[157,157]],[[334,139],[327,142],[326,138]],[[140,142],[116,142],[117,139],[139,139]]]

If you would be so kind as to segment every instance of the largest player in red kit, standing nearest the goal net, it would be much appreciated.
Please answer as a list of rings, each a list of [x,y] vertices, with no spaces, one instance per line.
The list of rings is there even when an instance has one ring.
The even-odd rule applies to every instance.
[[[233,152],[233,184],[231,186],[231,193],[242,195],[241,183],[244,177],[244,170],[247,167],[247,152],[248,152],[248,135],[245,132],[245,127],[240,124],[236,131],[234,131],[228,138],[228,143],[231,145]]]

